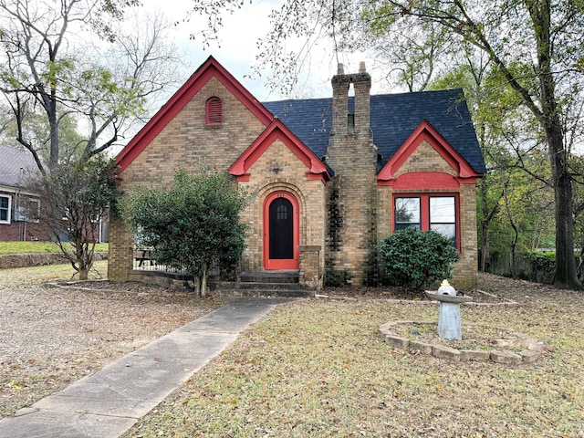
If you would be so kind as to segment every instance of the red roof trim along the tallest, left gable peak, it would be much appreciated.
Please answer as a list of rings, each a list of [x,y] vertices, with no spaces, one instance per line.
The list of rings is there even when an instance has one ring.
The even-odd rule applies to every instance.
[[[160,110],[144,125],[118,154],[117,162],[120,172],[123,172],[150,142],[183,110],[209,79],[217,78],[226,89],[229,89],[255,117],[264,124],[269,124],[274,116],[252,94],[245,89],[214,57],[208,57],[200,68],[193,73],[183,87],[178,89]]]

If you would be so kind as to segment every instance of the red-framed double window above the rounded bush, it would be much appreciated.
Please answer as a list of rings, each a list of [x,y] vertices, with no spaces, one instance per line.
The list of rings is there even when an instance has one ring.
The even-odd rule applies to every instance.
[[[451,239],[458,247],[456,199],[455,195],[395,196],[393,229],[433,230]]]

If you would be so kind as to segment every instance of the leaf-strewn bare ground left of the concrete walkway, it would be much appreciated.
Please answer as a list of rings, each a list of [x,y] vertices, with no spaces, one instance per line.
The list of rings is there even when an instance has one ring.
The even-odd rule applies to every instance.
[[[140,283],[0,288],[0,417],[222,304]]]

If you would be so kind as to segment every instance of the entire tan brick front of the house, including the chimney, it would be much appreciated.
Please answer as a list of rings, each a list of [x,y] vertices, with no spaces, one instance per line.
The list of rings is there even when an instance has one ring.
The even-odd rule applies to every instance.
[[[324,160],[334,176],[331,173],[326,178],[326,175],[318,177],[320,171],[315,173],[314,162],[310,162],[315,156],[307,158],[312,152],[307,150],[303,155],[303,147],[295,147],[297,139],[286,130],[279,137],[270,137],[261,149],[250,151],[274,123],[269,120],[269,113],[265,117],[262,112],[265,108],[256,106],[245,89],[226,74],[204,78],[203,85],[189,95],[188,101],[174,101],[182,105],[180,110],[164,120],[162,129],[148,137],[147,144],[141,145],[143,148],[131,160],[120,159],[124,162],[120,189],[169,185],[179,167],[194,172],[203,163],[220,172],[232,172],[239,186],[250,193],[242,213],[249,230],[241,269],[266,268],[266,201],[281,192],[292,197],[297,208],[296,254],[302,283],[310,287],[321,287],[324,281],[375,284],[379,278],[375,248],[392,233],[392,196],[408,193],[408,188],[378,181],[379,153],[370,129],[370,85],[370,75],[364,67],[358,74],[344,74],[339,69],[339,74],[332,79],[333,121]],[[355,97],[353,114],[349,115],[351,88]],[[222,102],[220,125],[205,124],[205,102],[211,97],[218,97]],[[168,116],[162,112],[162,116],[155,117],[163,120]],[[444,189],[418,187],[415,190],[456,193],[461,260],[455,266],[453,284],[457,288],[475,287],[475,178],[461,178],[453,160],[446,160],[444,152],[433,143],[420,141],[414,146],[392,170],[391,181],[406,181],[423,172],[432,172],[446,175],[449,180],[444,181],[456,182]],[[137,146],[130,142],[130,148],[134,147]],[[317,157],[318,162],[320,158]],[[235,165],[237,172],[233,170]],[[110,279],[125,281],[135,277],[132,247],[133,236],[128,225],[120,218],[112,218]]]

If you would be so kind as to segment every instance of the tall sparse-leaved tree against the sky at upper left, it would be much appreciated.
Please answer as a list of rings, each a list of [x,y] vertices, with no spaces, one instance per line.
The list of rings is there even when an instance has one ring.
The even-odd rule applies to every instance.
[[[74,120],[83,135],[76,160],[88,161],[140,120],[147,98],[180,79],[173,68],[176,49],[164,40],[161,19],[119,26],[126,10],[139,4],[0,0],[0,91],[16,120],[16,140],[41,172],[52,172],[71,156],[59,139],[66,120]],[[124,32],[128,27],[133,35]],[[101,39],[86,42],[88,33]],[[48,128],[42,139],[28,130],[34,123],[29,120],[39,117]]]

